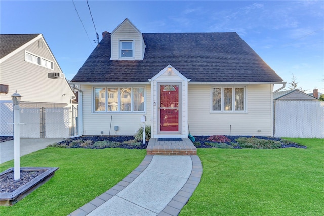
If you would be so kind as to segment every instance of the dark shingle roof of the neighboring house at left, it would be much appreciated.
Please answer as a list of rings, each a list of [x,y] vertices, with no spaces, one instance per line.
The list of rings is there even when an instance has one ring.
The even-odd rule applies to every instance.
[[[0,58],[8,55],[39,34],[0,34]]]

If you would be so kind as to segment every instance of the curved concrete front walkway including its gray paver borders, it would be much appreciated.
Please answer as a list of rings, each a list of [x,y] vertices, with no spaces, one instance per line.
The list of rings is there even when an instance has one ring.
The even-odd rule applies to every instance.
[[[147,155],[117,185],[69,215],[178,215],[201,174],[197,155]]]

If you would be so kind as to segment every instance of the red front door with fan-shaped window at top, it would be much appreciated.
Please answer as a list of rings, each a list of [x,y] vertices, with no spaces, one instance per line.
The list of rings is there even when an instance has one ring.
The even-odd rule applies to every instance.
[[[160,133],[180,133],[179,85],[160,85]]]

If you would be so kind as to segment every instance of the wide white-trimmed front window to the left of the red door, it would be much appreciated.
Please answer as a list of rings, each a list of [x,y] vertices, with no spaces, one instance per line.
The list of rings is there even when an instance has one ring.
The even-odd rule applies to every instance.
[[[94,87],[94,112],[144,112],[144,87]]]

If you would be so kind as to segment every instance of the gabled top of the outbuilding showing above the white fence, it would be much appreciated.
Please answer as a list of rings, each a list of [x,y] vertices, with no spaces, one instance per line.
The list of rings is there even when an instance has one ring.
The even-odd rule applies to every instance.
[[[273,100],[318,101],[317,98],[299,91],[298,89],[278,91],[273,94]]]

